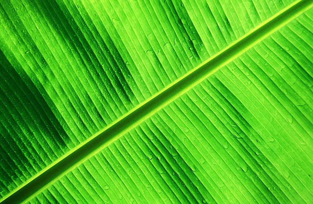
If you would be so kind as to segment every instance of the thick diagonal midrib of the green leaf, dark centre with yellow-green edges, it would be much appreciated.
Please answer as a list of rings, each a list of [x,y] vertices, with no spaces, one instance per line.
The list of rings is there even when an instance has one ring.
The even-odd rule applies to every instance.
[[[161,92],[138,105],[135,109],[131,110],[110,126],[99,131],[97,134],[54,161],[50,166],[29,179],[28,182],[5,196],[1,203],[12,204],[30,200],[40,193],[41,190],[54,183],[54,181],[66,175],[91,156],[94,156],[105,146],[108,146],[110,143],[120,138],[158,110],[161,110],[179,96],[186,93],[189,89],[206,79],[209,75],[233,61],[233,59],[246,52],[249,48],[253,47],[312,6],[312,0],[299,0],[281,10],[207,61],[175,80]]]

